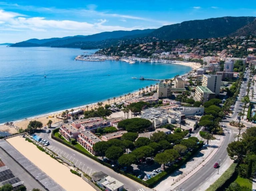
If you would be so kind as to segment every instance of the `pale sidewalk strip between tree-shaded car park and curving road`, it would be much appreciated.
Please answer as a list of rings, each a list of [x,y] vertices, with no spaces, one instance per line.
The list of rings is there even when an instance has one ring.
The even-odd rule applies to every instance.
[[[215,135],[216,139],[209,142],[209,144],[215,144],[220,147],[223,142],[223,136]],[[182,165],[180,169],[170,174],[166,179],[160,182],[154,190],[157,191],[169,191],[175,190],[177,186],[185,182],[191,176],[193,176],[198,170],[200,170],[217,152],[218,148],[208,147],[199,151],[199,153],[188,161],[185,165]],[[171,184],[171,185],[170,185]]]

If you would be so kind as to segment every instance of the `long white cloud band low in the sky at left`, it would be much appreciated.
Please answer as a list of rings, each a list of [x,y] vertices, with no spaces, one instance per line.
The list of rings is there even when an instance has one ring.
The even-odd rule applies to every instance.
[[[135,29],[146,29],[149,27],[133,26],[110,26],[106,25],[106,19],[100,19],[95,23],[77,22],[71,20],[47,20],[44,17],[24,17],[18,13],[0,10],[0,32],[1,31],[34,31],[34,32],[53,32],[65,31],[72,34],[95,34],[105,31]]]

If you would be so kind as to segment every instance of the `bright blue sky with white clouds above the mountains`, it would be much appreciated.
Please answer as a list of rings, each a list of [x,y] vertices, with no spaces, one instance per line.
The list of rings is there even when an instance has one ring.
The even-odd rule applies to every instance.
[[[156,29],[195,19],[256,16],[252,0],[0,0],[0,43]]]

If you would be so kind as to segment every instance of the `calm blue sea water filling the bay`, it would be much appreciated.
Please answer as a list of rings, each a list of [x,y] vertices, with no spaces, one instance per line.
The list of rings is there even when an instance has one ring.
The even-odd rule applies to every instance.
[[[0,47],[0,124],[97,103],[157,83],[131,77],[166,79],[191,70],[175,64],[75,61],[84,51]]]

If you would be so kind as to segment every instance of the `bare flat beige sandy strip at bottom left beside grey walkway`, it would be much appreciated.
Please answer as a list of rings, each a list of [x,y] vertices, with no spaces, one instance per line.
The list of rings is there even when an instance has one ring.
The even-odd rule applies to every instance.
[[[83,188],[86,191],[95,191],[81,177],[72,174],[68,167],[40,151],[34,144],[25,141],[24,138],[17,136],[7,139],[7,141],[65,190],[74,191]]]

